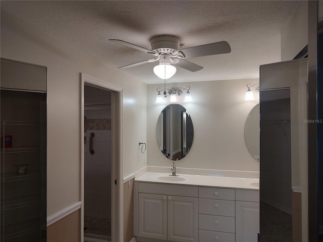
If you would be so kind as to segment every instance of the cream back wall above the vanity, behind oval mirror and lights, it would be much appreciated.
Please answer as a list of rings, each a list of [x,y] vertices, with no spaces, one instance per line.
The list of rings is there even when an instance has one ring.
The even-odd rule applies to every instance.
[[[190,85],[193,99],[191,103],[180,102],[192,117],[194,140],[188,155],[176,161],[177,167],[259,171],[259,163],[250,155],[244,140],[246,118],[259,100],[252,89],[256,100],[244,101],[247,83],[253,85],[259,80],[167,83],[167,88]],[[156,88],[163,86],[147,85],[147,164],[171,167],[172,162],[159,150],[155,133],[159,113],[169,104],[155,104]]]

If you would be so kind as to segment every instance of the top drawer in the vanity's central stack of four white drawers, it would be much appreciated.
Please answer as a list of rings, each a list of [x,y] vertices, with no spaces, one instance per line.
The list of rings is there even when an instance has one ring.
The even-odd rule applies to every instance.
[[[226,188],[198,188],[198,197],[199,198],[209,198],[209,199],[218,199],[218,200],[235,200],[235,190],[226,189]]]

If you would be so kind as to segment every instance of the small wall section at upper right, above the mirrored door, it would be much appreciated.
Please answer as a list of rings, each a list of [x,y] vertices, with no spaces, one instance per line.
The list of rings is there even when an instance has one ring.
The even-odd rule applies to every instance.
[[[307,1],[299,1],[288,24],[281,32],[282,61],[290,61],[308,43]]]

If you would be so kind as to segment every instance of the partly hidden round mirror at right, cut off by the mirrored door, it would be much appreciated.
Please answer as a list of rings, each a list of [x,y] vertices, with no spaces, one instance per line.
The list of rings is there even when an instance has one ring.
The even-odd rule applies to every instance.
[[[259,161],[259,104],[255,105],[246,120],[244,127],[244,138],[248,150],[253,158]]]

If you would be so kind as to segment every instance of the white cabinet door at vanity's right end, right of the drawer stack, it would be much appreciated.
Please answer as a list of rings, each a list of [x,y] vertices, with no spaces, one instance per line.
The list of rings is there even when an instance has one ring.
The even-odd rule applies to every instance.
[[[257,242],[259,203],[236,201],[236,242]]]

